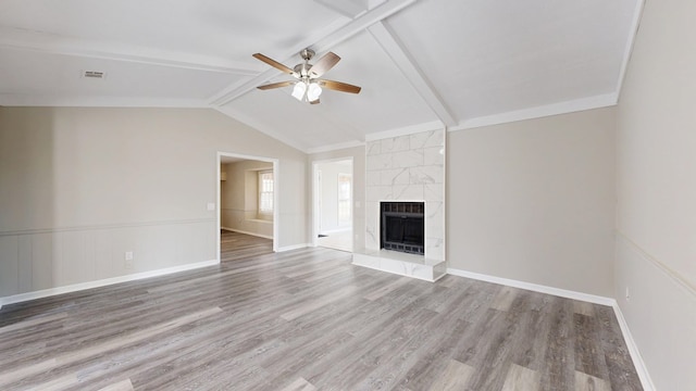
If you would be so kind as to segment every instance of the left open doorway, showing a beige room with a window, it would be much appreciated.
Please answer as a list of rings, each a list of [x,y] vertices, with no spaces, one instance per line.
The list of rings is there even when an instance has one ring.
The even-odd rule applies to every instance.
[[[277,160],[217,153],[217,258],[277,250]]]

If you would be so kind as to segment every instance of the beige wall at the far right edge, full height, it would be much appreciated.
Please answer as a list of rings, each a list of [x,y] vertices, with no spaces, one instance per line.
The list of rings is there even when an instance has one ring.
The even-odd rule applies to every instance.
[[[696,384],[695,20],[646,3],[618,111],[616,297],[658,390]]]

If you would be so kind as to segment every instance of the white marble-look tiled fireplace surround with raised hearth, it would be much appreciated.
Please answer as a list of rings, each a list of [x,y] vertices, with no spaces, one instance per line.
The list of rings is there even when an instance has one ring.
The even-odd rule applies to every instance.
[[[353,264],[434,281],[445,263],[445,131],[366,143],[364,250]],[[380,202],[425,202],[425,256],[380,250]]]

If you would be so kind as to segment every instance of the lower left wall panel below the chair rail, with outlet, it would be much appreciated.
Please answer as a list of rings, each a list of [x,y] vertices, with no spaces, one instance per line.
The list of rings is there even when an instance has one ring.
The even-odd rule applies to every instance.
[[[215,226],[191,219],[0,232],[0,305],[22,293],[213,260]]]

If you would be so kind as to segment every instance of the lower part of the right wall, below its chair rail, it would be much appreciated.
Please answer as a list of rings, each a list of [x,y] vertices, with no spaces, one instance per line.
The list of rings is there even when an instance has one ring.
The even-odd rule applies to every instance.
[[[616,289],[645,362],[644,373],[650,374],[644,383],[647,380],[657,390],[693,390],[696,289],[621,232],[617,234]]]

